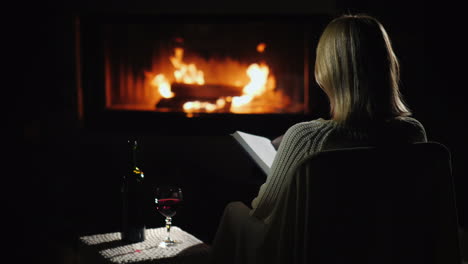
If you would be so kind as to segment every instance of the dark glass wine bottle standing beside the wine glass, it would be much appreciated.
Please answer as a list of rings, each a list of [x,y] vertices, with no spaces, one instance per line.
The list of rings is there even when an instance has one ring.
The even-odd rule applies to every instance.
[[[145,240],[144,174],[137,166],[138,142],[128,140],[129,164],[122,183],[122,240],[136,243]]]

